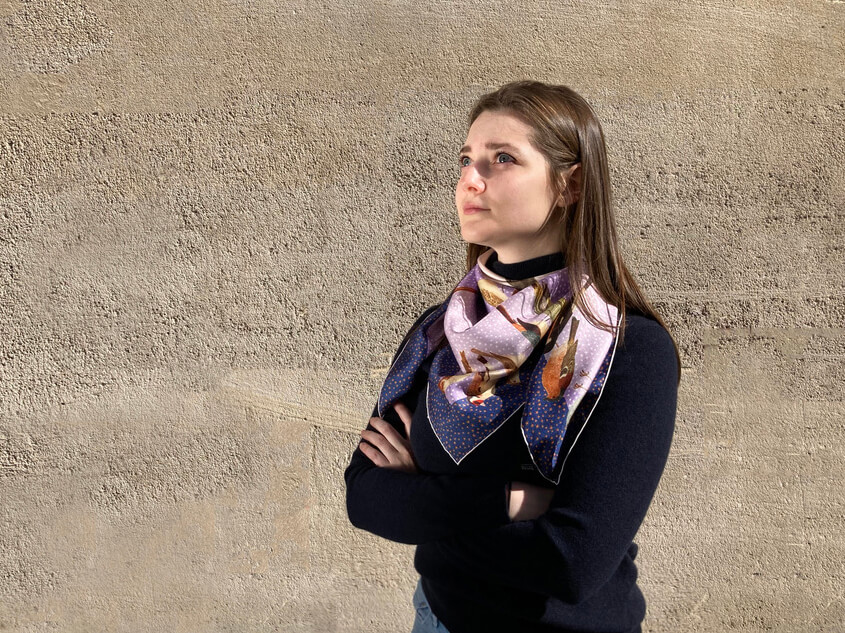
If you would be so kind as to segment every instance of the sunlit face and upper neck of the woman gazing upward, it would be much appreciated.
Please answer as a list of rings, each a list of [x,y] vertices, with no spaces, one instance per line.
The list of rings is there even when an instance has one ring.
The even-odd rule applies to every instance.
[[[455,205],[461,236],[493,248],[503,263],[556,253],[559,237],[543,225],[555,201],[549,164],[529,141],[531,128],[503,111],[485,111],[461,148]]]

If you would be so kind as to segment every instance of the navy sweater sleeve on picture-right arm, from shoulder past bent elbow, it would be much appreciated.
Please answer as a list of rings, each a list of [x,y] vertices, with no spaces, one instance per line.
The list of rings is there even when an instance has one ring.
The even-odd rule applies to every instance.
[[[618,568],[654,496],[674,432],[677,382],[669,334],[641,319],[617,350],[550,509],[533,521],[426,544],[426,559],[571,604],[588,599]]]

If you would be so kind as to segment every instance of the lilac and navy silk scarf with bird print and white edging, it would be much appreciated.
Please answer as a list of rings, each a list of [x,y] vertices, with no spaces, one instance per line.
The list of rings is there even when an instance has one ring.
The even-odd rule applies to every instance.
[[[531,459],[556,484],[601,396],[615,329],[596,327],[582,314],[566,268],[509,280],[485,266],[492,253],[479,256],[449,298],[408,336],[379,393],[379,415],[408,392],[433,353],[428,419],[452,460],[460,464],[522,410]],[[582,292],[594,315],[617,325],[617,308],[586,277]]]

